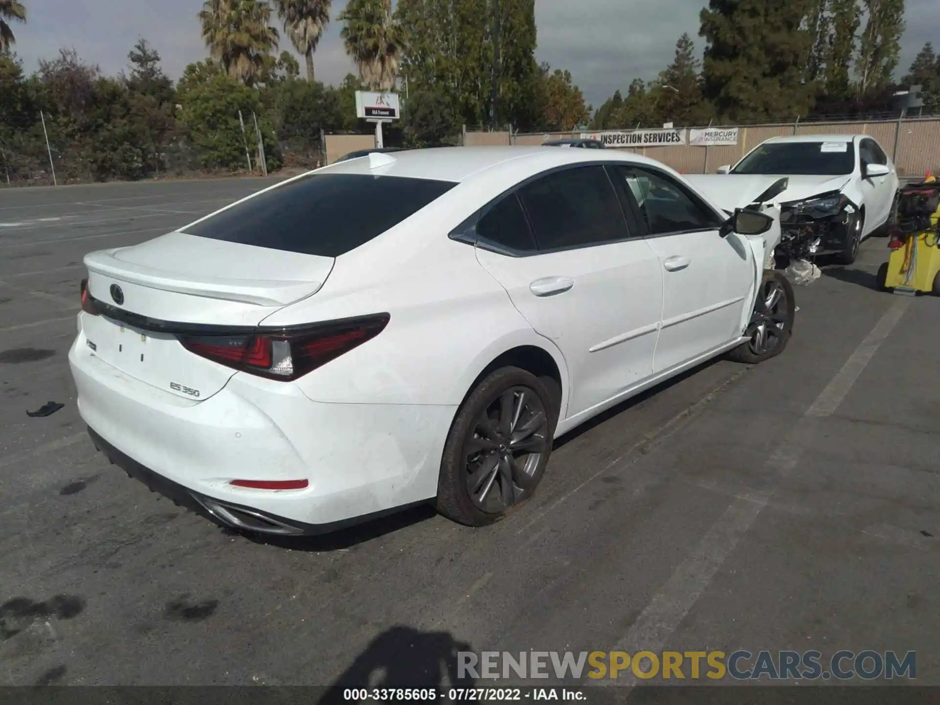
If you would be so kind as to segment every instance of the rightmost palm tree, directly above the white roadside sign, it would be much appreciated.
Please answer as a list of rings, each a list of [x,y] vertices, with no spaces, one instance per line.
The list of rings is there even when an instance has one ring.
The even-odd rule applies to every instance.
[[[346,23],[340,37],[359,79],[372,90],[390,90],[399,73],[401,29],[389,0],[350,0],[339,20]]]

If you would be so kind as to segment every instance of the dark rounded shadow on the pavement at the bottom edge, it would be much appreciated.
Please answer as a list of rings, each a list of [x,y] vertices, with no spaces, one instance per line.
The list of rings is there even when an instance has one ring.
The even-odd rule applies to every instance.
[[[469,688],[472,678],[457,672],[458,651],[469,644],[446,632],[419,632],[396,626],[376,636],[366,650],[337,678],[321,698],[321,705],[348,702],[347,688]]]

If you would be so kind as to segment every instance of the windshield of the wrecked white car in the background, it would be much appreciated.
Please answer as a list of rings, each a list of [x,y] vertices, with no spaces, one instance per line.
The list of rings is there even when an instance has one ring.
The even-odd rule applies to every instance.
[[[844,150],[839,150],[841,147]],[[855,168],[851,142],[780,142],[761,145],[731,171],[732,174],[841,176]]]

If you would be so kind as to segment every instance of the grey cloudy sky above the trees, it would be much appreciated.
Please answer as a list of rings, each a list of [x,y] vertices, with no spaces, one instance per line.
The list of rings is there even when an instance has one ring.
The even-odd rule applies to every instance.
[[[907,30],[901,40],[900,73],[925,42],[940,43],[938,0],[907,0]],[[200,0],[24,0],[27,24],[15,24],[17,54],[34,71],[40,58],[60,47],[74,48],[108,74],[128,65],[127,55],[144,37],[163,58],[167,75],[206,55],[196,13]],[[345,0],[334,0],[336,17]],[[587,102],[599,107],[634,78],[650,80],[666,68],[676,39],[688,32],[699,53],[698,13],[704,0],[537,0],[539,61],[572,72]],[[119,8],[119,10],[118,10]],[[118,11],[116,11],[118,10]],[[279,28],[279,27],[278,27]],[[340,24],[330,23],[314,56],[317,78],[339,83],[352,63],[339,39]],[[287,39],[281,49],[291,49]],[[303,63],[301,64],[303,67]]]

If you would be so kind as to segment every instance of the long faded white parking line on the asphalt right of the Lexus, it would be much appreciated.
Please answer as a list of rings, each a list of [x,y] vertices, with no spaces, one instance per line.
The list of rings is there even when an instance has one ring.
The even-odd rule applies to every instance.
[[[756,477],[776,480],[786,478],[800,460],[819,425],[821,416],[832,415],[845,399],[869,364],[885,338],[901,321],[911,299],[904,298],[892,305],[881,320],[855,349],[845,365],[807,411],[796,422],[771,457],[764,463]],[[746,499],[735,499],[725,513],[716,521],[679,568],[672,573],[666,584],[653,596],[633,626],[623,635],[616,647],[636,653],[638,650],[657,652],[663,650],[666,640],[682,623],[702,592],[711,584],[714,574],[737,547],[747,530],[754,524],[760,512],[776,493],[776,486],[752,491]],[[648,662],[644,662],[649,666]],[[641,666],[642,667],[642,666]],[[603,686],[620,685],[632,688],[638,680],[633,673],[624,680],[607,680]],[[629,692],[629,691],[627,691]],[[623,694],[626,697],[626,694]]]

